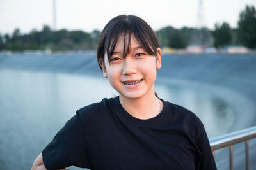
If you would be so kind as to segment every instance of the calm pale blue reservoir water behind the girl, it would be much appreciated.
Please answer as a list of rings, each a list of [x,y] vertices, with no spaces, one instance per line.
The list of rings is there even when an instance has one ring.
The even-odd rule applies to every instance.
[[[117,95],[97,76],[1,69],[0,81],[0,169],[30,169],[77,109]],[[210,138],[225,134],[234,122],[234,111],[222,99],[179,80],[157,81],[156,91],[195,112]]]

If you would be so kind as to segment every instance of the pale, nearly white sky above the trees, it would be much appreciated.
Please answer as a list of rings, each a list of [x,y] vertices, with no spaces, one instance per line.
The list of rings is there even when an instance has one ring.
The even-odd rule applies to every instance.
[[[56,0],[56,30],[103,29],[111,18],[121,14],[138,15],[157,31],[166,26],[197,27],[200,22],[214,29],[216,22],[228,22],[237,27],[239,13],[256,0]],[[53,28],[53,0],[0,0],[0,34],[12,34],[19,28],[22,34],[43,25]]]

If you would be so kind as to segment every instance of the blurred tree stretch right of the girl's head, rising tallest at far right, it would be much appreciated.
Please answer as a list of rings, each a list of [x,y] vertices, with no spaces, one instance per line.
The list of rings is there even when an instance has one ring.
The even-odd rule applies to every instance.
[[[256,48],[256,10],[254,6],[246,6],[239,15],[238,27],[232,29],[227,22],[216,23],[214,30],[183,27],[175,29],[165,27],[157,31],[161,46],[186,48],[189,44],[199,44],[222,48],[225,45],[243,45]]]

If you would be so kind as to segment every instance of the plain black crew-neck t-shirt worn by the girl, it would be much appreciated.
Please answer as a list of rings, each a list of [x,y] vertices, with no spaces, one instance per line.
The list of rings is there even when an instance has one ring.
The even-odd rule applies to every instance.
[[[216,169],[204,125],[163,101],[154,118],[132,117],[119,97],[77,111],[42,151],[47,169]]]

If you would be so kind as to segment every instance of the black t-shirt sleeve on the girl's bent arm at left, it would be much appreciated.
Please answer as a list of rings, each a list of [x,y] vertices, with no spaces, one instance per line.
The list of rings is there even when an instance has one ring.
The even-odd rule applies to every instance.
[[[81,115],[77,111],[42,151],[46,169],[63,169],[72,165],[90,168],[84,132]]]

